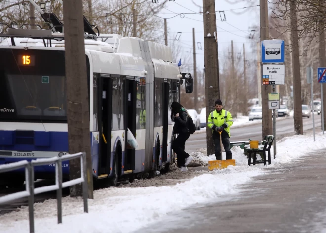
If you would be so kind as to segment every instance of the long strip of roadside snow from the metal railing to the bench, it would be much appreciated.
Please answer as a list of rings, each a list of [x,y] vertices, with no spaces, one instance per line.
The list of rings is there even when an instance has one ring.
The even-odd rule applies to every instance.
[[[35,204],[35,232],[100,233],[137,231],[170,212],[239,192],[237,186],[262,174],[257,168],[233,167],[202,174],[173,186],[106,188],[94,192],[89,213],[81,198],[63,198],[63,224],[56,223],[56,200]],[[110,229],[110,230],[108,230]],[[28,208],[0,216],[0,233],[28,232]]]

